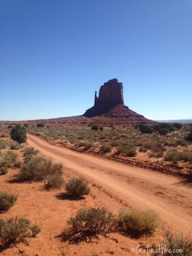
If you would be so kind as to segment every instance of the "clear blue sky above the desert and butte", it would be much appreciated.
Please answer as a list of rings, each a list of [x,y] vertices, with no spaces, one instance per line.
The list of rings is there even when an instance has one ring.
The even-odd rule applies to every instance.
[[[149,119],[192,119],[192,0],[0,0],[0,120],[81,115],[109,79]]]

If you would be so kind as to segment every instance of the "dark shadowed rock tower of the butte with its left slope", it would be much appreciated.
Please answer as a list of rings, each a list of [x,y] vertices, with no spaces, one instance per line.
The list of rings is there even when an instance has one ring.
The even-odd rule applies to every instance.
[[[119,104],[124,104],[123,85],[114,78],[100,87],[99,97],[95,92],[95,104],[85,112],[84,116],[93,117],[106,114]]]

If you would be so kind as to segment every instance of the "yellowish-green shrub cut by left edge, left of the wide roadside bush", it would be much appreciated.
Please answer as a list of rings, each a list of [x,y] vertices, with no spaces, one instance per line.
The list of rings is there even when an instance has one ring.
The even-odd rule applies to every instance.
[[[18,167],[18,156],[12,151],[0,152],[0,167]]]

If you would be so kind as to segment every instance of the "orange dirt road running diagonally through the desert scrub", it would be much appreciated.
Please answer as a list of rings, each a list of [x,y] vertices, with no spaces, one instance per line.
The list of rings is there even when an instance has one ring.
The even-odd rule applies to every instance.
[[[192,188],[179,178],[74,152],[34,135],[28,134],[27,138],[28,145],[44,156],[64,163],[74,175],[86,176],[123,203],[154,209],[175,230],[188,233],[192,229]]]

